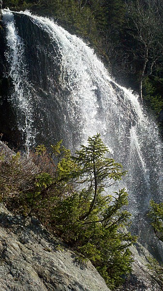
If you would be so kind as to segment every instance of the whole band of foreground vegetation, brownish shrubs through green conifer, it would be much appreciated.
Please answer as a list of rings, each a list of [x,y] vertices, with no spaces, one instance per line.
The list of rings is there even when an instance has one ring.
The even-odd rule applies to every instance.
[[[106,192],[125,172],[106,156],[100,134],[89,137],[74,157],[61,141],[51,148],[48,153],[37,146],[28,159],[1,153],[1,199],[12,211],[37,216],[115,288],[131,270],[129,246],[136,238],[125,228],[130,222],[126,190]]]

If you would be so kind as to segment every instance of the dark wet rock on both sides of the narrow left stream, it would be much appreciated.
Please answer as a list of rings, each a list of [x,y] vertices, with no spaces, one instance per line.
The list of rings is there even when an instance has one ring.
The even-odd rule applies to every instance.
[[[19,77],[17,83],[19,83],[19,92],[22,96],[19,106],[17,100],[19,93],[15,91],[15,81],[10,75],[11,64],[7,62],[6,57],[10,49],[7,45],[7,28],[4,24],[3,30],[0,30],[0,133],[3,133],[2,141],[7,141],[10,147],[22,149],[25,146],[27,131],[31,130],[34,137],[33,144],[36,145],[44,143],[45,146],[49,146],[60,139],[63,139],[67,147],[72,146],[75,140],[79,144],[80,137],[76,134],[78,125],[71,124],[71,117],[67,113],[70,92],[59,84],[62,59],[57,42],[52,41],[48,33],[34,24],[29,16],[14,14],[14,20],[17,37],[23,44],[22,55],[20,51],[18,52],[18,60],[21,61],[15,64],[18,69],[14,69]],[[25,99],[26,108],[29,108],[31,116],[24,112],[24,108],[21,109],[24,102],[22,100]],[[30,128],[26,131],[27,120]],[[73,133],[68,143],[67,135],[70,132]]]

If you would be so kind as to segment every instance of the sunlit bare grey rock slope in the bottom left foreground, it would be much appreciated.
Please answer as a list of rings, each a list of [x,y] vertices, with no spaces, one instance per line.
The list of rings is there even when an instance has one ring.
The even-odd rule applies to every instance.
[[[1,291],[109,291],[90,262],[50,237],[39,221],[0,207]]]

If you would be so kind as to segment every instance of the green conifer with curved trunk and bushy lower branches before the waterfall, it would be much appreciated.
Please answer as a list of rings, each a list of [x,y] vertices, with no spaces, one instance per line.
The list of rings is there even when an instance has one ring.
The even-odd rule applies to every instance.
[[[60,161],[66,185],[71,181],[75,186],[53,209],[52,225],[92,261],[109,287],[115,288],[123,281],[121,276],[131,270],[129,246],[136,238],[125,228],[131,216],[123,209],[128,203],[126,190],[107,194],[108,187],[125,175],[121,164],[106,157],[108,153],[100,134],[96,134],[70,157],[74,170],[72,162],[71,171],[67,171],[65,160],[63,164]]]

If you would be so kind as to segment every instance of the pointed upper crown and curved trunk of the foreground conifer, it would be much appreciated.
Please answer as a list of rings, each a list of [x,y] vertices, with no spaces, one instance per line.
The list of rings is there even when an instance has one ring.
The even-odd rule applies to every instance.
[[[85,216],[96,208],[96,202],[99,203],[104,187],[114,184],[114,181],[121,179],[125,174],[121,172],[122,166],[119,163],[105,157],[107,152],[108,149],[104,146],[100,134],[97,134],[92,138],[89,137],[88,146],[81,146],[81,150],[76,151],[76,156],[73,158],[79,167],[76,173],[81,177],[80,183],[89,183],[85,195],[92,195],[89,211]]]

